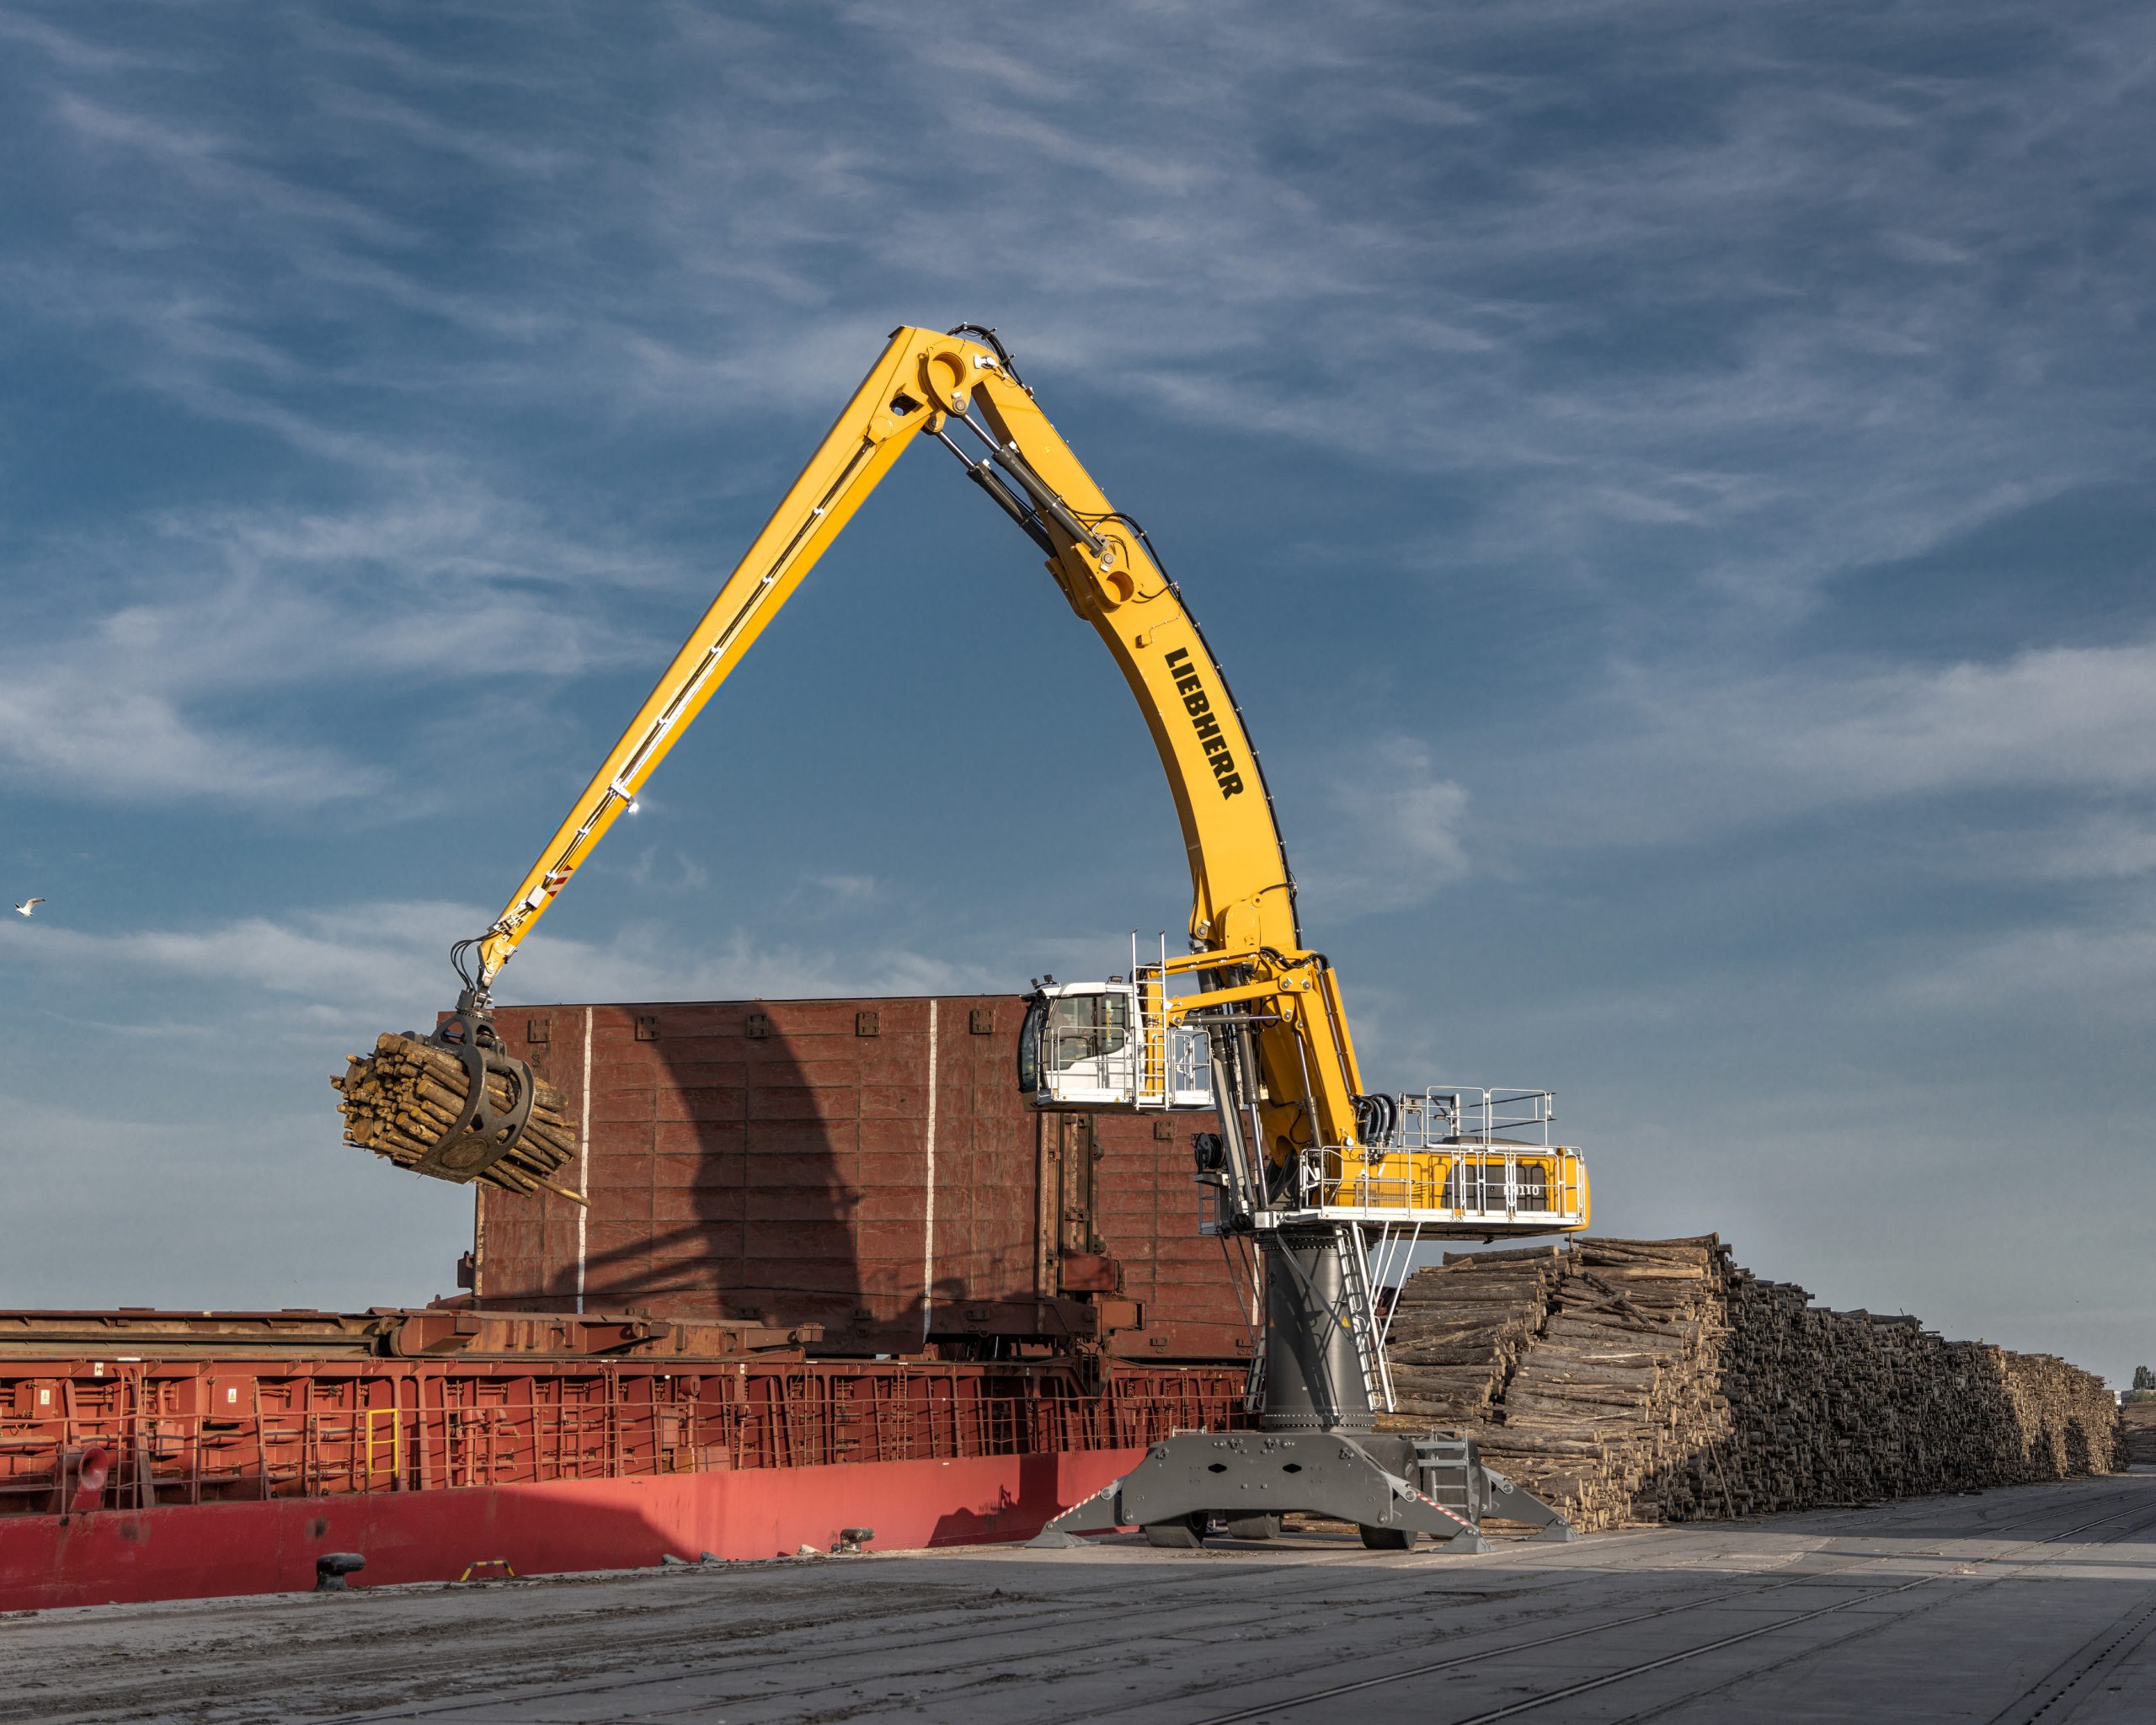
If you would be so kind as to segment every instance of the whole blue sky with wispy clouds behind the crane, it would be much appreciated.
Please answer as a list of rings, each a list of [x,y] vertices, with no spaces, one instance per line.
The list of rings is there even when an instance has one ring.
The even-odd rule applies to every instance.
[[[895,323],[1235,679],[1373,1080],[2156,1361],[2145,6],[0,4],[0,1305],[390,1305],[446,1003]],[[903,464],[505,998],[1022,988],[1186,880]]]

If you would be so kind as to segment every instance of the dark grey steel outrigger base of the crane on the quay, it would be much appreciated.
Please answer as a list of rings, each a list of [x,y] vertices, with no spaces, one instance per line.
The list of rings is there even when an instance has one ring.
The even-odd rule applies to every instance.
[[[1427,1533],[1449,1552],[1490,1550],[1470,1520],[1423,1496],[1337,1432],[1186,1432],[1156,1443],[1138,1466],[1065,1509],[1033,1544],[1061,1546],[1072,1533],[1160,1527],[1199,1516],[1248,1520],[1294,1512],[1399,1531],[1410,1544],[1412,1535]]]

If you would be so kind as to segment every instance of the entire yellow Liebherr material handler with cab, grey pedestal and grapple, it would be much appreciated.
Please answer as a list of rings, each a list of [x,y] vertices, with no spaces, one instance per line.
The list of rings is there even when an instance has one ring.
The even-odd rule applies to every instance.
[[[1313,1509],[1358,1522],[1376,1546],[1421,1531],[1477,1548],[1473,1522],[1496,1477],[1473,1445],[1373,1432],[1393,1399],[1378,1287],[1423,1240],[1587,1227],[1587,1169],[1550,1141],[1548,1091],[1365,1091],[1339,979],[1304,944],[1272,798],[1227,679],[1145,530],[1078,464],[994,330],[893,332],[502,914],[457,942],[464,990],[436,1041],[474,1072],[528,1087],[492,1031],[494,979],[918,438],[957,457],[1108,647],[1153,735],[1190,858],[1188,951],[1162,940],[1141,962],[1134,942],[1130,970],[1106,983],[1037,981],[1020,1085],[1039,1108],[1218,1110],[1220,1130],[1197,1138],[1203,1227],[1250,1236],[1263,1264],[1259,1434],[1175,1438],[1063,1520],[1194,1544],[1220,1516],[1250,1533]],[[420,1171],[472,1179],[511,1143],[515,1132],[487,1117],[448,1134]],[[1503,1490],[1507,1518],[1535,1520],[1524,1492]]]

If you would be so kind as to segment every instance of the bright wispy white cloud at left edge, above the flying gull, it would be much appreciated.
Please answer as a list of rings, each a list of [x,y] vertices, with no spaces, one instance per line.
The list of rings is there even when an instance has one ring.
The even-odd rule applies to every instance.
[[[24,627],[0,645],[0,776],[151,804],[373,796],[395,765],[308,740],[323,727],[304,701],[558,679],[642,658],[647,643],[593,595],[668,574],[470,485],[336,511],[175,511],[69,535],[15,563]],[[82,619],[93,593],[112,608]],[[285,724],[233,718],[248,701],[282,705]]]

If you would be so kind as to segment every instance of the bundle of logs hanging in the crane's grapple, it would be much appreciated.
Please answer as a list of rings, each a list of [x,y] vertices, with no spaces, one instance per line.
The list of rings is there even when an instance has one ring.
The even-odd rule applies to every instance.
[[[345,1143],[371,1149],[401,1169],[418,1164],[457,1123],[470,1095],[464,1063],[418,1037],[384,1033],[373,1054],[347,1057],[345,1072],[330,1078],[343,1091],[336,1110],[345,1117]],[[543,1078],[533,1080],[533,1110],[507,1156],[472,1175],[505,1192],[556,1192],[584,1203],[582,1192],[556,1186],[548,1175],[576,1160],[576,1128],[567,1102]],[[509,1106],[509,1080],[489,1074],[487,1095]]]

